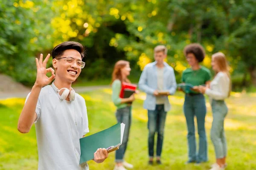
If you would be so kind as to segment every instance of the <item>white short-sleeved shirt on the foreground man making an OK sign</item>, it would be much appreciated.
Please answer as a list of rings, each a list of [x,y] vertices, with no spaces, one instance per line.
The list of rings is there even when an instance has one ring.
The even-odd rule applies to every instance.
[[[38,170],[89,170],[87,164],[79,165],[79,139],[89,132],[84,98],[76,94],[73,102],[61,100],[47,85],[41,89],[35,112]]]

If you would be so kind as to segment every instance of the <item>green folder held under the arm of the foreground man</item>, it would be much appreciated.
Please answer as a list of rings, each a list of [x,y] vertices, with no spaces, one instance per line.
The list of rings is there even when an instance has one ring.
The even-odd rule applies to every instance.
[[[83,164],[84,162],[93,159],[94,153],[99,148],[106,148],[108,153],[119,149],[119,146],[122,144],[124,130],[125,124],[119,122],[108,129],[81,138],[81,156],[79,164]]]

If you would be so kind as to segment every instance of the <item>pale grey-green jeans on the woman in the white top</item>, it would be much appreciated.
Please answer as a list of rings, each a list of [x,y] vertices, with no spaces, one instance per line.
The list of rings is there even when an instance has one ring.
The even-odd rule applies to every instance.
[[[224,119],[227,115],[227,105],[222,100],[212,100],[212,129],[211,140],[215,149],[215,156],[221,159],[227,156],[227,141],[224,132]]]

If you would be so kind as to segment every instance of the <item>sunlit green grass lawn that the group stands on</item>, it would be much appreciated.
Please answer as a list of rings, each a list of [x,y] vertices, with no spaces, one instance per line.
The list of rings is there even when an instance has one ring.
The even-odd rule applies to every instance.
[[[82,94],[86,100],[90,133],[103,130],[116,123],[115,106],[111,90],[103,89]],[[213,145],[209,139],[212,113],[207,103],[207,137],[209,162],[195,166],[185,165],[187,160],[186,122],[182,112],[183,94],[170,96],[172,110],[166,119],[163,145],[163,165],[148,166],[147,111],[143,109],[145,94],[137,95],[133,105],[131,135],[126,161],[134,170],[208,170],[214,163]],[[28,134],[17,131],[17,120],[25,99],[0,101],[0,170],[35,170],[38,165],[35,126]],[[229,113],[225,121],[228,142],[227,170],[256,170],[256,94],[233,93],[227,100]],[[112,170],[114,153],[102,164],[89,161],[90,170]]]

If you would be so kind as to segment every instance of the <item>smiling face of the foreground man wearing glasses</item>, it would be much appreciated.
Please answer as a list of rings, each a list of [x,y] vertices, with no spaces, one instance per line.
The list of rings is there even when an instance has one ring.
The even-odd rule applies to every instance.
[[[72,63],[70,59],[63,57],[70,57],[75,61],[81,61],[81,54],[74,49],[68,49],[65,50],[61,56],[52,60],[52,65],[55,68],[56,79],[59,78],[62,82],[72,83],[81,73],[81,67],[77,65],[77,62]]]

